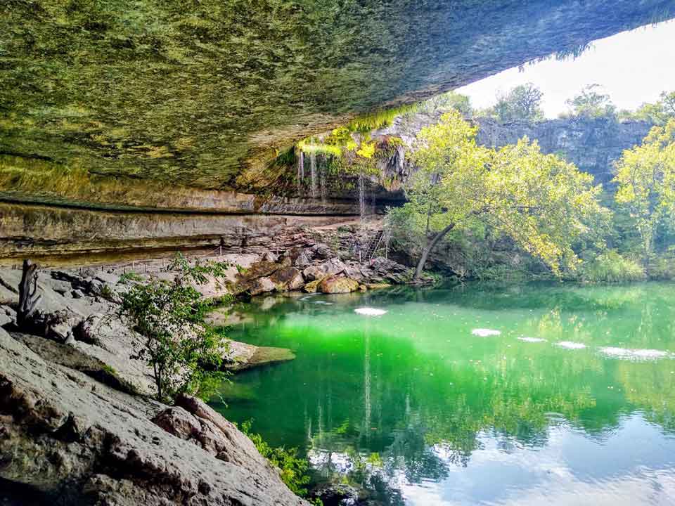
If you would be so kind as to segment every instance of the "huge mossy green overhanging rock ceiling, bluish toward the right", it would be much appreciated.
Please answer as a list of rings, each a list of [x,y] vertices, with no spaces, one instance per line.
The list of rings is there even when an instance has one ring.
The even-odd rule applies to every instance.
[[[52,169],[65,201],[93,175],[126,176],[120,198],[139,180],[283,193],[293,171],[269,162],[293,141],[672,15],[671,0],[4,1],[0,193],[23,198],[28,172],[23,196],[54,200]]]

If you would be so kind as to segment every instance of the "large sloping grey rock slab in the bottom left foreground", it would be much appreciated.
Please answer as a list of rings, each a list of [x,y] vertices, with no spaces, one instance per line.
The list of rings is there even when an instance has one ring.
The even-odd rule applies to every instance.
[[[0,477],[53,504],[302,506],[255,446],[207,406],[124,394],[33,353],[0,329]],[[174,412],[175,413],[175,412]],[[190,433],[192,426],[194,432]],[[198,428],[197,428],[198,427]],[[191,439],[184,434],[193,434]],[[195,439],[195,434],[197,439]],[[217,455],[214,453],[217,451]]]

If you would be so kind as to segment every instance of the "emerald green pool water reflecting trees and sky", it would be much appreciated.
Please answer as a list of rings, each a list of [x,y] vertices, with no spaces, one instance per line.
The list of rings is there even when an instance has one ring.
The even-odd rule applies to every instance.
[[[392,505],[675,504],[674,302],[666,283],[262,299],[229,335],[297,359],[214,406]]]

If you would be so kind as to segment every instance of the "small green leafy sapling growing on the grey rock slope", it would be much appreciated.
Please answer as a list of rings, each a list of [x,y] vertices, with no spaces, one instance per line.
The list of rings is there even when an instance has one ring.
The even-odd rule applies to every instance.
[[[131,358],[153,368],[158,401],[181,392],[199,394],[207,380],[223,376],[219,367],[227,351],[224,337],[205,323],[208,305],[193,286],[205,283],[207,275],[222,275],[224,266],[191,266],[179,256],[173,268],[181,273],[171,282],[150,278],[133,285],[118,313],[142,337]]]

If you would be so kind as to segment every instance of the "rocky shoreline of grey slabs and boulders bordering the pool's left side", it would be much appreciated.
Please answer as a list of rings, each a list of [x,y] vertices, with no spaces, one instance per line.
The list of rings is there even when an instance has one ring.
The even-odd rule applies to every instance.
[[[409,269],[342,260],[321,242],[281,254],[227,255],[207,299],[345,293],[403,283]],[[139,339],[116,309],[134,283],[166,268],[39,271],[30,329],[19,329],[21,271],[0,268],[0,500],[56,505],[305,505],[252,442],[197,398],[150,399],[153,377],[129,358]],[[231,322],[219,320],[214,325]],[[292,360],[290,350],[230,342],[226,367]],[[6,491],[6,492],[5,492]],[[13,492],[12,492],[13,491]],[[18,493],[20,491],[20,493]],[[16,495],[18,493],[18,495]]]

